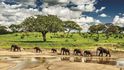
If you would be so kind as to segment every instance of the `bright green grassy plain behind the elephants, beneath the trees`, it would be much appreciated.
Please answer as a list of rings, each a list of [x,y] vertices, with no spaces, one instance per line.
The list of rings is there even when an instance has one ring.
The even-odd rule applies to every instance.
[[[58,33],[58,35],[62,35],[63,33]],[[53,33],[47,34],[47,42],[42,41],[41,33],[33,32],[27,33],[29,36],[25,36],[21,39],[21,36],[25,35],[25,33],[14,33],[14,34],[5,34],[0,35],[0,47],[1,48],[10,48],[12,44],[17,44],[23,48],[32,48],[34,46],[42,47],[42,48],[83,48],[90,49],[94,48],[96,44],[100,43],[121,43],[121,47],[124,44],[123,39],[114,39],[113,37],[106,40],[104,37],[100,36],[100,41],[95,42],[91,38],[83,38],[79,34],[73,34],[72,38],[51,38],[54,36]]]

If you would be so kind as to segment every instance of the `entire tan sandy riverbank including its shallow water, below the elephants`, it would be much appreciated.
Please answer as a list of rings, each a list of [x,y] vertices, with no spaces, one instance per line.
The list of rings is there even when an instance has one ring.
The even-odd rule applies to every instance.
[[[33,51],[0,51],[0,70],[119,70],[116,60],[123,52],[112,52],[112,57],[83,57],[58,55],[50,50],[43,53]]]

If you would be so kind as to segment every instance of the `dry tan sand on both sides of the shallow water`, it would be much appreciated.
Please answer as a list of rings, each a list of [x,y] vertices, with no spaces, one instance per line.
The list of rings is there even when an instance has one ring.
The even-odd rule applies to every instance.
[[[22,52],[11,52],[9,50],[0,49],[0,58],[2,57],[58,57],[56,53],[51,53],[50,50],[44,50],[43,53],[35,53],[33,50],[26,50]],[[74,55],[70,55],[74,56]],[[123,52],[112,52],[112,58],[124,58]],[[97,63],[84,62],[69,62],[69,61],[55,61],[42,64],[27,64],[26,67],[20,68],[25,63],[16,63],[16,60],[6,61],[0,59],[0,70],[119,70],[116,65],[106,65]]]

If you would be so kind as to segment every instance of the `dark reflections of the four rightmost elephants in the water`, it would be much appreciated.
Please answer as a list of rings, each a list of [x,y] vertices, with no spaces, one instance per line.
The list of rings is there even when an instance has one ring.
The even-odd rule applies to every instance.
[[[106,57],[61,57],[61,61],[71,61],[71,62],[85,62],[85,63],[98,63],[98,64],[108,64],[116,65],[115,58]]]

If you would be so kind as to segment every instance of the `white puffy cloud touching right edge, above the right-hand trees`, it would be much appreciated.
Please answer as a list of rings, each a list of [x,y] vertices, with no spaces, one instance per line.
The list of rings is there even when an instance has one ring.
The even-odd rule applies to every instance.
[[[124,17],[115,16],[113,19],[113,24],[117,26],[124,27]]]

